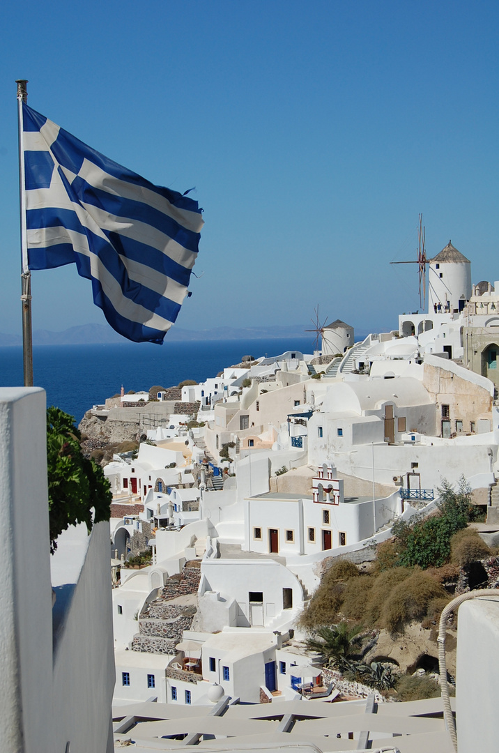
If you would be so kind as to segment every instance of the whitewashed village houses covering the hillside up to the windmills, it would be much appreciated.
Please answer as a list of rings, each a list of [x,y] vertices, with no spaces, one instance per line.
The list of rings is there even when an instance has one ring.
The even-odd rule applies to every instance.
[[[149,429],[135,459],[105,466],[121,565],[115,700],[301,698],[319,670],[290,654],[290,635],[324,558],[434,509],[444,477],[464,474],[499,524],[497,307],[499,283],[472,285],[449,242],[429,265],[427,312],[358,343],[338,320],[313,355],[257,358],[184,386],[190,410]],[[121,401],[148,413],[148,399]],[[126,568],[147,546],[153,564]]]

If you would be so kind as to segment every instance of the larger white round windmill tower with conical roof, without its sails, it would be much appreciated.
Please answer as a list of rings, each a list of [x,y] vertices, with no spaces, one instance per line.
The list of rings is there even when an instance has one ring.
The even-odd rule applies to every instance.
[[[428,312],[461,312],[470,297],[471,262],[449,241],[440,254],[430,260]]]

